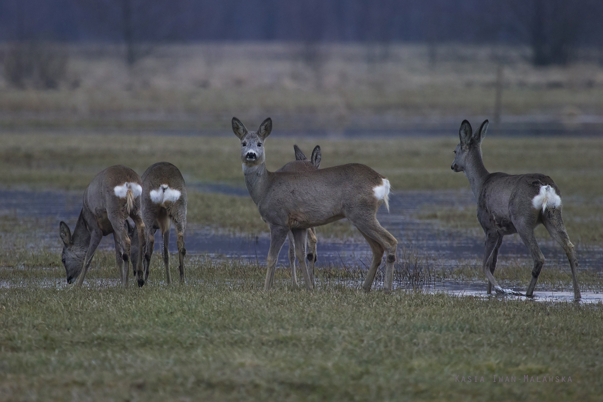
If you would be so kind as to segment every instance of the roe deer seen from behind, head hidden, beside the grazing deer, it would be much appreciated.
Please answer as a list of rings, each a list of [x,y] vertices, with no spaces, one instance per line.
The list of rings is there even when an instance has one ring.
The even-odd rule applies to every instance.
[[[142,243],[145,281],[150,271],[157,229],[163,239],[165,280],[168,284],[172,281],[169,273],[169,225],[172,221],[177,233],[178,271],[180,271],[180,282],[183,282],[186,254],[186,186],[180,170],[169,162],[155,163],[142,174],[142,221],[147,231],[147,243]],[[133,236],[132,248],[139,245],[137,237]]]

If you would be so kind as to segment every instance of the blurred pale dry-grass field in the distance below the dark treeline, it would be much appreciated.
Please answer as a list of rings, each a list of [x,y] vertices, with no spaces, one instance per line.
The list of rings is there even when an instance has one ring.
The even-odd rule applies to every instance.
[[[0,127],[219,128],[232,115],[270,115],[283,128],[395,130],[414,118],[493,116],[498,60],[503,116],[575,124],[603,107],[599,64],[534,68],[522,47],[443,45],[435,63],[414,44],[392,44],[379,61],[358,44],[323,45],[310,61],[300,52],[296,43],[155,46],[130,70],[119,47],[73,45],[57,90],[0,78]]]

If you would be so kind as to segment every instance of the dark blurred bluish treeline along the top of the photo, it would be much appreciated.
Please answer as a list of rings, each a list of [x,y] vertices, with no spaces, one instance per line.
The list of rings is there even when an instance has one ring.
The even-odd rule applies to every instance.
[[[4,42],[278,40],[528,45],[535,65],[603,49],[601,0],[0,0]],[[602,57],[603,60],[603,57]]]

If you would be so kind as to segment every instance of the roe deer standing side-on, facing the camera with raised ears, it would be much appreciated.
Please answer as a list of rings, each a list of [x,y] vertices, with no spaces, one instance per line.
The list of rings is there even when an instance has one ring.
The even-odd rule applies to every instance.
[[[377,221],[382,203],[389,210],[390,181],[359,163],[305,172],[269,172],[266,169],[264,140],[272,131],[272,120],[265,119],[257,131],[237,118],[232,129],[241,140],[241,162],[245,184],[260,216],[270,226],[270,250],[264,289],[270,290],[279,251],[289,231],[295,241],[306,289],[314,286],[306,267],[306,229],[347,218],[362,233],[373,251],[373,262],[364,281],[370,291],[384,253],[384,291],[390,292],[396,262],[397,240]]]

